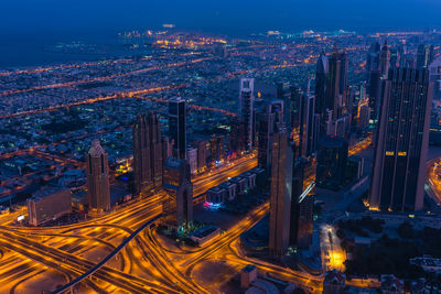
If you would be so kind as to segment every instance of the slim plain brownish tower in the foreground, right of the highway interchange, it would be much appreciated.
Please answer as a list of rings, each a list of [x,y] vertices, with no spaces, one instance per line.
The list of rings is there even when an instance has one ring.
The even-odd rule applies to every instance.
[[[286,133],[275,133],[271,151],[269,249],[282,255],[289,246],[293,153]]]

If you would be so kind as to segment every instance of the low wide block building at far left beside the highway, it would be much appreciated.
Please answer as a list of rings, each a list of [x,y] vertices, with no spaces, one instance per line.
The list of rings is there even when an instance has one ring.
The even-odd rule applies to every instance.
[[[39,226],[71,213],[71,190],[63,187],[43,188],[28,198],[29,224]]]

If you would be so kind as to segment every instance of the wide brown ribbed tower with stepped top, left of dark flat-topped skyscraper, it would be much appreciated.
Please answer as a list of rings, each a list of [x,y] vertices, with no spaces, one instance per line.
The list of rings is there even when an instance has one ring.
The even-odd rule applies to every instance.
[[[149,194],[162,186],[161,126],[157,113],[137,116],[132,139],[135,189]]]

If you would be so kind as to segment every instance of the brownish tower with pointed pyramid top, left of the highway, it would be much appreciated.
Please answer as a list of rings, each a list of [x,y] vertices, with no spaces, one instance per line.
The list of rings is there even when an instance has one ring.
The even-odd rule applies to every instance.
[[[87,199],[93,213],[110,210],[109,163],[98,139],[92,141],[86,154]]]

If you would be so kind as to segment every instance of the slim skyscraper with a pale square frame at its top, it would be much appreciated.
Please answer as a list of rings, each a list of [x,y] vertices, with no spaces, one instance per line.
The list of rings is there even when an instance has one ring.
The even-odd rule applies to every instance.
[[[254,90],[254,78],[240,79],[240,116],[245,123],[245,149],[247,151],[254,148],[255,141]]]

